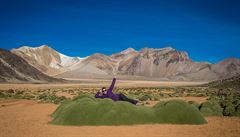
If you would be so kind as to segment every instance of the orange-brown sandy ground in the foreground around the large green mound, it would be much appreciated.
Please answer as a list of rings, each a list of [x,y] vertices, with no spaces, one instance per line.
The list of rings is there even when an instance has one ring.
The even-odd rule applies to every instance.
[[[207,117],[204,125],[55,126],[54,104],[0,100],[0,137],[239,137],[240,118]]]

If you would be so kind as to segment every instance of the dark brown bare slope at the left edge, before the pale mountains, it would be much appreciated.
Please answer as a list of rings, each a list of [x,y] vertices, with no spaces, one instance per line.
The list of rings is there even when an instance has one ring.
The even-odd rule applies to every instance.
[[[0,49],[0,82],[63,82],[29,65],[21,57]]]

